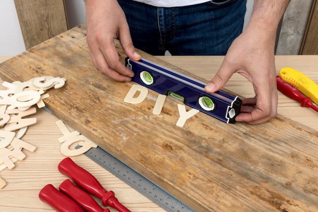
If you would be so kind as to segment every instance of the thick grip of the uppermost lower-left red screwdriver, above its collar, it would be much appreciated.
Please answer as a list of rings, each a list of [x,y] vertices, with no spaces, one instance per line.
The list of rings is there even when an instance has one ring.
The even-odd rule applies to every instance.
[[[91,175],[88,171],[78,166],[71,158],[65,158],[58,164],[58,170],[62,174],[67,175],[79,187],[88,193],[103,199],[107,195],[107,191],[103,188],[100,182]],[[113,195],[113,192],[111,192]]]

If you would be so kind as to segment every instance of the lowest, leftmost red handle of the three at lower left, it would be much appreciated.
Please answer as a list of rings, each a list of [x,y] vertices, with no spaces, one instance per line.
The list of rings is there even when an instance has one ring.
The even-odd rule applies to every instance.
[[[74,200],[55,189],[51,184],[43,187],[39,198],[58,212],[84,212],[83,208]]]

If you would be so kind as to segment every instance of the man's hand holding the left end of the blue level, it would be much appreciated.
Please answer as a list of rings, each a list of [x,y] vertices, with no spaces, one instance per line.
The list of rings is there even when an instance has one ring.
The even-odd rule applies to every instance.
[[[126,53],[139,60],[126,17],[116,0],[85,0],[87,44],[94,66],[116,81],[131,81],[134,72],[119,60],[114,39],[118,38]]]

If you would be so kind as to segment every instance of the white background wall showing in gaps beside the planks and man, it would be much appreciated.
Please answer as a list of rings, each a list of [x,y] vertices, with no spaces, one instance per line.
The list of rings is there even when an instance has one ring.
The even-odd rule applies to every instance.
[[[254,0],[247,0],[245,24]],[[86,24],[84,0],[65,0],[69,28]],[[13,0],[0,0],[0,56],[15,56],[25,51],[22,32]]]

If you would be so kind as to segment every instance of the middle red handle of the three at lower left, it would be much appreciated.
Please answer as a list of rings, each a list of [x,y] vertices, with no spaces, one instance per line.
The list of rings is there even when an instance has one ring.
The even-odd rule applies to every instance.
[[[87,212],[110,212],[107,208],[103,209],[89,194],[75,186],[69,179],[61,183],[59,190],[71,197]]]

